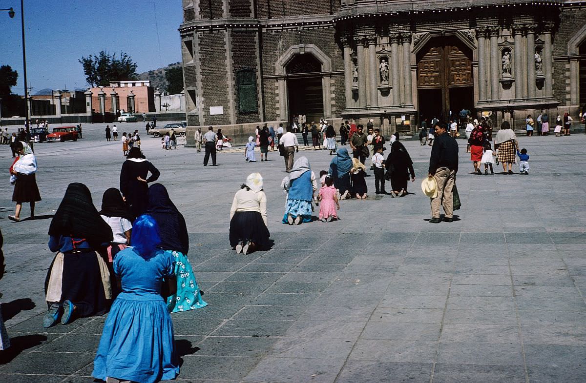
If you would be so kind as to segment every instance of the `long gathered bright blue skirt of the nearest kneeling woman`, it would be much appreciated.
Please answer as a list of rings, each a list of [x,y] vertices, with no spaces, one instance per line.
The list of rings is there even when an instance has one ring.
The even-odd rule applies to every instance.
[[[173,323],[165,301],[114,301],[94,359],[94,378],[155,383],[179,375]]]

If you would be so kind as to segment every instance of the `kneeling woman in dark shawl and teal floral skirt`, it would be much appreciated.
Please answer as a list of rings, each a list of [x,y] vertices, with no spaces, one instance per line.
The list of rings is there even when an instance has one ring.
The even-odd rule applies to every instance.
[[[167,298],[169,312],[200,309],[207,306],[199,292],[195,273],[187,253],[189,235],[185,218],[169,198],[165,186],[155,183],[149,187],[148,208],[145,214],[155,218],[161,234],[160,248],[172,254],[173,269],[177,276],[177,292]]]

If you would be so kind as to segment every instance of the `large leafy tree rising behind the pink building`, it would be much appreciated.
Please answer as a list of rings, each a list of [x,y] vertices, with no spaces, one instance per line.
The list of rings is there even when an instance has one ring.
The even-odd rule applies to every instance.
[[[86,81],[93,87],[108,86],[110,81],[137,80],[137,64],[127,53],[120,52],[120,59],[116,54],[102,50],[96,55],[82,56],[78,60],[86,74]]]

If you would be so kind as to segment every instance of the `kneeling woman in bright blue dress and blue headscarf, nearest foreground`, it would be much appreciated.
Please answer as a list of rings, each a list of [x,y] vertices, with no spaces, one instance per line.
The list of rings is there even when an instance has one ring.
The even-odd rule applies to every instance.
[[[173,259],[157,248],[156,221],[140,216],[132,228],[132,247],[114,258],[122,292],[104,324],[94,359],[93,377],[154,383],[175,379],[178,358],[173,348],[173,323],[161,296],[163,285],[176,288]]]

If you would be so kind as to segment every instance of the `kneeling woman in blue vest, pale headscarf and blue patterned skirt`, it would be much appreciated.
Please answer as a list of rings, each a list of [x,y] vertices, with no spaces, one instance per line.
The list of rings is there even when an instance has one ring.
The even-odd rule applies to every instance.
[[[318,182],[306,157],[295,161],[289,175],[282,180],[281,187],[288,192],[282,222],[289,225],[311,222],[311,201],[318,190]]]

